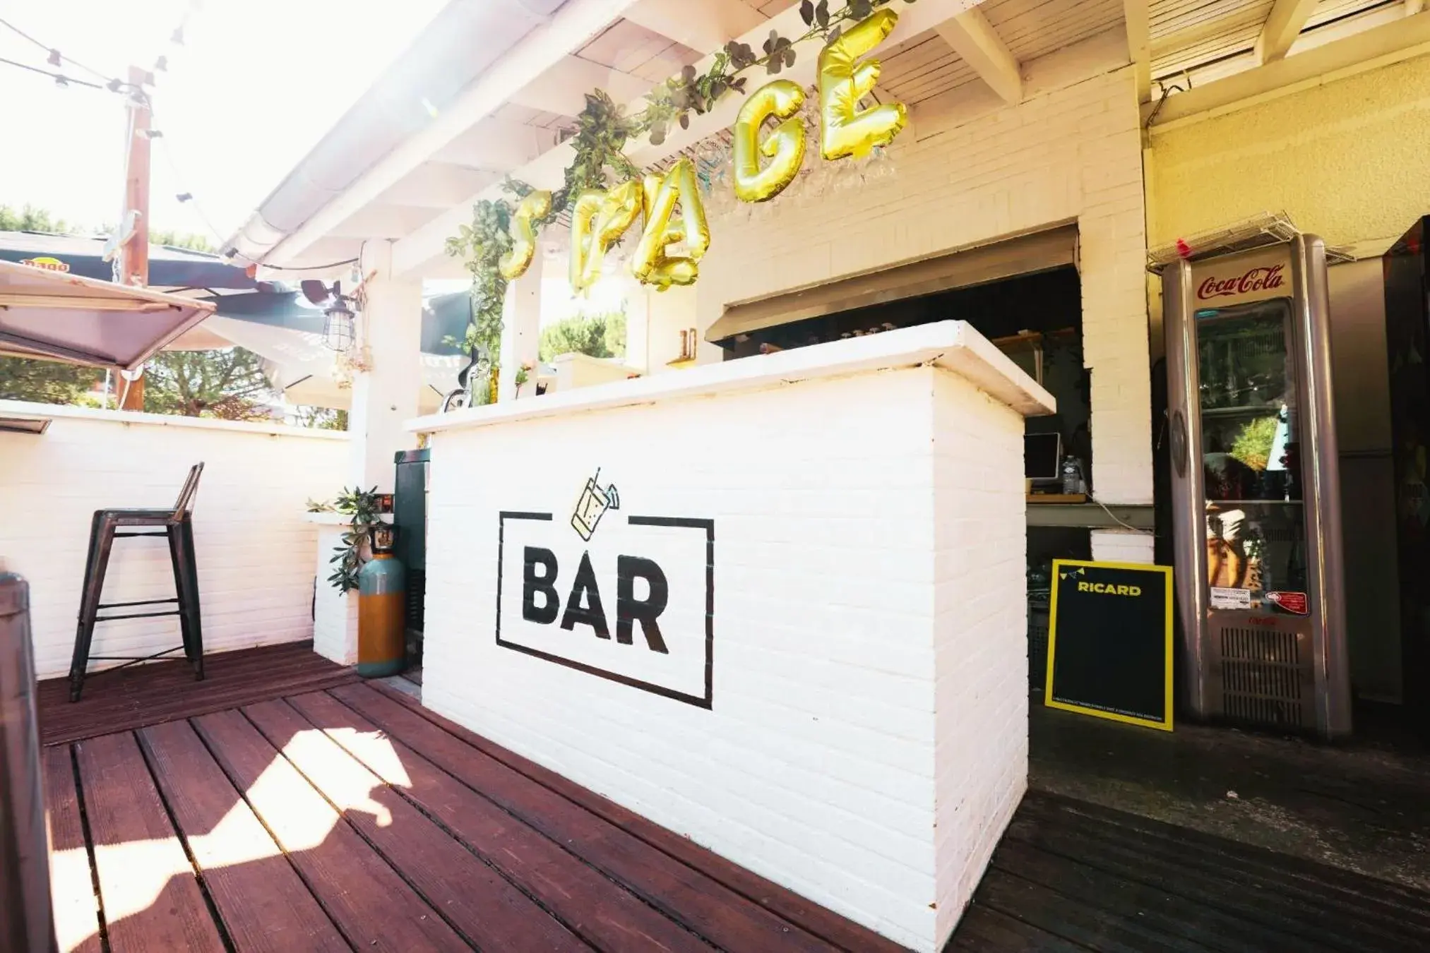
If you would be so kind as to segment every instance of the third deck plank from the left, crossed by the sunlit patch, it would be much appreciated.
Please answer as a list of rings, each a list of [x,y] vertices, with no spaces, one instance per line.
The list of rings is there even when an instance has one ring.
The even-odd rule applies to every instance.
[[[139,743],[240,952],[349,949],[187,722],[143,729]]]

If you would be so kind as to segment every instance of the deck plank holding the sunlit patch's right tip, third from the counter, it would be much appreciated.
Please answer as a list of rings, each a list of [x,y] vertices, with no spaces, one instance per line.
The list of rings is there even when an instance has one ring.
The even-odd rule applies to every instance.
[[[709,947],[326,693],[287,699],[405,799],[522,884],[588,943],[612,953]]]

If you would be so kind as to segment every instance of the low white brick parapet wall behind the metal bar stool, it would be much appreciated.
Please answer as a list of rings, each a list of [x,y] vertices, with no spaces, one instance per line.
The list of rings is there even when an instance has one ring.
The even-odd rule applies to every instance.
[[[43,434],[0,431],[0,563],[30,583],[41,679],[70,667],[94,510],[170,507],[200,461],[193,520],[204,650],[312,637],[317,527],[303,509],[340,490],[347,434],[0,401],[0,417],[11,416],[50,419]],[[103,602],[167,599],[173,586],[163,539],[116,540]],[[177,644],[174,617],[132,619],[96,626],[92,654]]]

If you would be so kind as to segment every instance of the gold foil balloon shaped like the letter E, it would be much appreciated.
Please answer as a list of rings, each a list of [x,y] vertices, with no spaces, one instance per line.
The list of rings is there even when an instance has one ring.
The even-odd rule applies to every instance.
[[[875,146],[888,146],[908,121],[902,103],[857,111],[879,79],[879,61],[859,57],[894,31],[898,14],[879,10],[849,27],[819,53],[821,154],[828,160],[867,156]]]

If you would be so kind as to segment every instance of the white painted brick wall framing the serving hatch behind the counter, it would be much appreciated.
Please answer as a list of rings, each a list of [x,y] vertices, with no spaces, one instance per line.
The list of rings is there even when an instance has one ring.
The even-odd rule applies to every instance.
[[[1131,71],[1054,89],[934,134],[922,134],[915,116],[909,131],[895,140],[891,183],[818,206],[776,201],[775,214],[755,223],[712,223],[696,286],[699,327],[726,303],[1077,221],[1094,489],[1107,503],[1151,503],[1145,227]],[[719,354],[702,346],[702,360]]]

